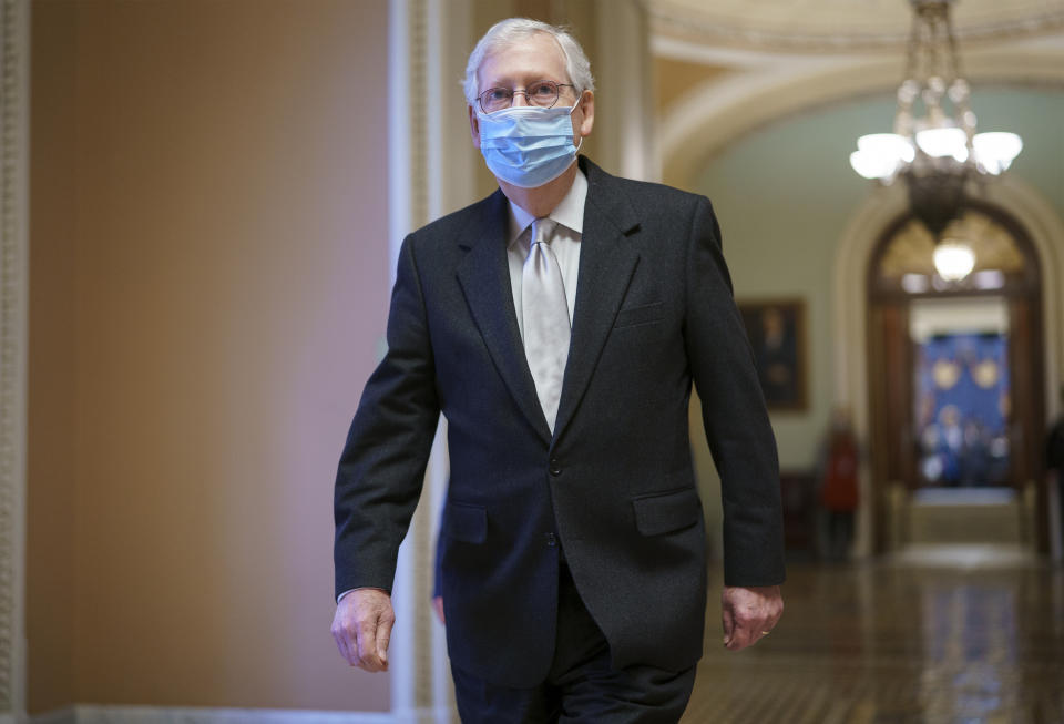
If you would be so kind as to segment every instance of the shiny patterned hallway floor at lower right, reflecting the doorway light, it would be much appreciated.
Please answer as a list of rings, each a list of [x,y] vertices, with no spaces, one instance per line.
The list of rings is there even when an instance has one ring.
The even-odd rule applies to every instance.
[[[719,590],[720,581],[716,581]],[[1064,568],[988,547],[795,564],[755,647],[706,655],[683,724],[1064,724]]]

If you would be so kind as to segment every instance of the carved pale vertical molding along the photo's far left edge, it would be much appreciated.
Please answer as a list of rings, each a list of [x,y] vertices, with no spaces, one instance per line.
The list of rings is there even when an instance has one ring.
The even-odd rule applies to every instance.
[[[0,718],[24,716],[28,0],[0,0]]]

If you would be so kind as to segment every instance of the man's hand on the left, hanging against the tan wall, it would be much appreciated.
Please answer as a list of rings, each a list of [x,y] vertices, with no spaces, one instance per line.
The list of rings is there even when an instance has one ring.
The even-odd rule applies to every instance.
[[[332,616],[332,638],[340,655],[366,671],[388,671],[388,642],[396,612],[380,589],[356,589],[340,599]]]

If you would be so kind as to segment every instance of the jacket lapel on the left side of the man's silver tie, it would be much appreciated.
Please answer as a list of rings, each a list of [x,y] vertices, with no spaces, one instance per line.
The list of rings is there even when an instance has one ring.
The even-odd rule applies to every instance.
[[[459,241],[468,253],[458,267],[458,281],[510,395],[543,440],[550,442],[551,430],[535,395],[535,383],[524,357],[513,308],[507,261],[507,198],[497,191],[484,204],[480,224],[470,227]]]

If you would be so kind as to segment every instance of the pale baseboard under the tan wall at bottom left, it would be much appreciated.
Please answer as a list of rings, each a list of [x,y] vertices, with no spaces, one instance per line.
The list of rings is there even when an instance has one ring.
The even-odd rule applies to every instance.
[[[31,724],[397,724],[405,721],[406,717],[370,712],[91,704],[79,704],[30,718]]]

